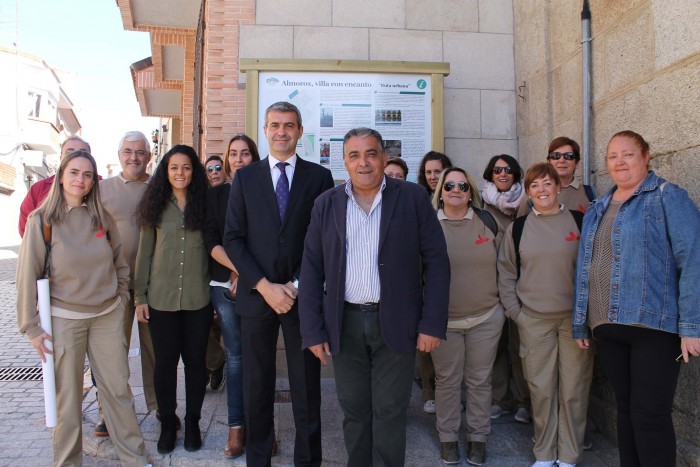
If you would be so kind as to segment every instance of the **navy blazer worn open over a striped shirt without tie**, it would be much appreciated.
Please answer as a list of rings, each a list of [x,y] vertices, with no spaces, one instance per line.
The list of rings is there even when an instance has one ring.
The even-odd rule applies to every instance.
[[[346,270],[345,185],[314,205],[299,278],[304,348],[329,342],[340,351]],[[425,188],[393,178],[382,193],[379,227],[380,323],[387,345],[412,351],[418,333],[445,339],[450,263]]]

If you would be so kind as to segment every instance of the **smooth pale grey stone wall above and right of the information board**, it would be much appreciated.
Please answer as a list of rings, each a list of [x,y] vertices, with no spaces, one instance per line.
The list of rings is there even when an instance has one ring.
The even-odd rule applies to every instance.
[[[215,2],[212,2],[215,3]],[[445,152],[517,157],[512,0],[258,0],[240,58],[449,62]]]

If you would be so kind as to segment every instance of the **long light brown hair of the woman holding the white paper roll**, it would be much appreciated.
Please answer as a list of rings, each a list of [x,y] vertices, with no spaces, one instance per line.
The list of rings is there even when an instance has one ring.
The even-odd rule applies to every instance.
[[[58,168],[58,173],[56,173],[56,178],[54,179],[49,195],[46,197],[43,203],[34,211],[31,215],[39,212],[42,214],[42,220],[48,225],[59,225],[66,220],[68,215],[68,205],[66,204],[66,198],[63,194],[63,186],[61,185],[61,177],[66,170],[66,167],[73,159],[82,157],[87,159],[92,165],[93,170],[93,184],[92,188],[87,195],[84,196],[83,202],[87,207],[88,214],[92,219],[92,228],[98,229],[100,226],[109,232],[112,227],[112,217],[104,210],[102,207],[102,200],[100,198],[100,189],[97,175],[97,163],[92,155],[87,151],[74,151],[61,161],[61,165]]]

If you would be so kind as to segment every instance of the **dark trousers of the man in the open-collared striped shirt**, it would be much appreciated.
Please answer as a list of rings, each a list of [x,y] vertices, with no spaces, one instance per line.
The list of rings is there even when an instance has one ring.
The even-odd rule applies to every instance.
[[[345,307],[333,369],[349,467],[404,465],[415,358],[386,345],[379,312]]]

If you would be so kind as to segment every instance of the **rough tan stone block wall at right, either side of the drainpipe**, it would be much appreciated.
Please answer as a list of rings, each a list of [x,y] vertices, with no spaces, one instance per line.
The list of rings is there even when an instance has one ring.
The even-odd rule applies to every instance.
[[[581,0],[514,0],[516,125],[526,168],[548,142],[582,135]],[[591,181],[611,186],[610,137],[631,129],[649,141],[652,166],[700,203],[700,2],[591,0]],[[700,361],[683,365],[674,403],[678,465],[700,465]],[[615,438],[615,401],[596,370],[591,414]]]

